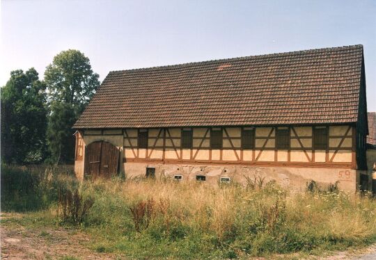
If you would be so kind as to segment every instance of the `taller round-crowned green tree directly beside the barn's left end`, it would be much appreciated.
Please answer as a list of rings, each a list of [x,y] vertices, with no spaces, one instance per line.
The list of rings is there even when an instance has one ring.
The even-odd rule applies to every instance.
[[[50,162],[70,163],[75,142],[72,126],[100,86],[99,75],[80,51],[61,51],[45,71],[49,116],[47,144]]]

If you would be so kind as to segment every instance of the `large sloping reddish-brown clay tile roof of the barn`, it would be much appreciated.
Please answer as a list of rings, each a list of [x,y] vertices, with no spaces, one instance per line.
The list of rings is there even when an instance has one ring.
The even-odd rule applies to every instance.
[[[357,122],[363,46],[109,72],[75,129]]]

